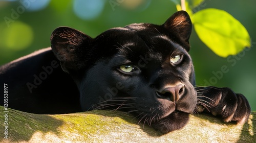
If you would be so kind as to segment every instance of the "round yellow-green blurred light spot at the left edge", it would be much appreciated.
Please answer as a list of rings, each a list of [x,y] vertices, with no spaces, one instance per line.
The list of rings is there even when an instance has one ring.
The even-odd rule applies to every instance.
[[[1,46],[15,51],[26,49],[33,41],[33,30],[24,22],[15,21],[1,34]]]

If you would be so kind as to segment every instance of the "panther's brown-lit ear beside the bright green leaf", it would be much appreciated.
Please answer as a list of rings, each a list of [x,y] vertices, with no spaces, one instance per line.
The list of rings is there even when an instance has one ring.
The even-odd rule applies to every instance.
[[[163,24],[168,30],[177,33],[180,39],[189,45],[189,37],[192,31],[192,22],[185,11],[178,11],[170,16]],[[189,50],[189,47],[188,49]]]

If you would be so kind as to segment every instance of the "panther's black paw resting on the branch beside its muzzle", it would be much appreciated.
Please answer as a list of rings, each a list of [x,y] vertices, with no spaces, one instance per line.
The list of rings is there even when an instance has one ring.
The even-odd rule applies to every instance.
[[[240,93],[234,93],[229,88],[198,87],[197,112],[211,112],[221,116],[224,122],[235,121],[243,124],[250,115],[250,105]]]

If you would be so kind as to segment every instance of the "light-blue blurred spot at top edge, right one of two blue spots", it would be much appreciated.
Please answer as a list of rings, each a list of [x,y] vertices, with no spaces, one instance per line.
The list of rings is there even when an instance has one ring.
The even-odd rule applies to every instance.
[[[79,18],[91,20],[101,14],[104,3],[104,0],[75,0],[73,10]]]

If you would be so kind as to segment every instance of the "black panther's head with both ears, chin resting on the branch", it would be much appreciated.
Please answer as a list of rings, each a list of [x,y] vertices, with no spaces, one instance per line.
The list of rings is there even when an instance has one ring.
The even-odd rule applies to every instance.
[[[191,28],[185,11],[163,25],[134,23],[96,38],[59,27],[51,47],[77,84],[83,111],[120,109],[167,133],[182,128],[196,107]]]

